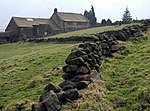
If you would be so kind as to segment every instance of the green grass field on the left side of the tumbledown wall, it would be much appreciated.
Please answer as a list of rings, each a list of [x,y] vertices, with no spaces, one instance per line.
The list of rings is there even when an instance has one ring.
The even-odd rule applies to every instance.
[[[0,107],[21,100],[36,102],[45,85],[63,81],[61,67],[76,46],[73,43],[0,45]],[[60,70],[52,72],[55,66]],[[51,74],[50,78],[43,77],[47,74]]]

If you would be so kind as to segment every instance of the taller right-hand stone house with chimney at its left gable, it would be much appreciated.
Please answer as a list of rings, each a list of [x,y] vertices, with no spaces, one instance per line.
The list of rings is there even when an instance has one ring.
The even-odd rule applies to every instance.
[[[57,12],[56,8],[54,9],[54,14],[51,19],[55,21],[63,32],[90,27],[90,21],[82,14]]]

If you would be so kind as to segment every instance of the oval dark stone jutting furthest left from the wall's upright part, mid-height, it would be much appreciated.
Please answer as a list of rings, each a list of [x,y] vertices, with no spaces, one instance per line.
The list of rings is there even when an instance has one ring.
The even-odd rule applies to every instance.
[[[63,67],[63,71],[66,73],[74,73],[78,69],[77,65],[66,65]]]

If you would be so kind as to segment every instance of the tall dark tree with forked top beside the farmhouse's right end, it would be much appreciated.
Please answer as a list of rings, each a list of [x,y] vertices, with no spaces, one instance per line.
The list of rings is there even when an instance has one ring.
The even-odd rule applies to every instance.
[[[91,6],[91,10],[89,12],[87,10],[84,11],[84,16],[90,20],[92,27],[96,26],[97,19],[95,17],[95,11],[93,6]]]

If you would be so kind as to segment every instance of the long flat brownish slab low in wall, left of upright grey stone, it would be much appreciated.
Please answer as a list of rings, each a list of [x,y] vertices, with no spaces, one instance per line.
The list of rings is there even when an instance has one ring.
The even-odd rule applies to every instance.
[[[79,81],[92,81],[91,76],[89,74],[86,75],[77,75],[71,81],[79,82]]]

